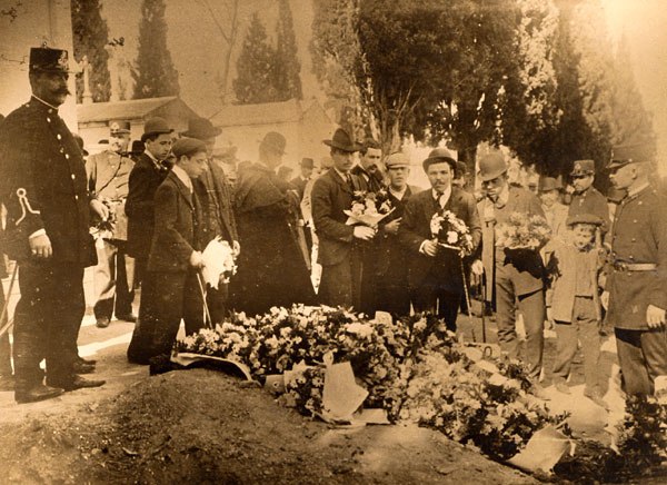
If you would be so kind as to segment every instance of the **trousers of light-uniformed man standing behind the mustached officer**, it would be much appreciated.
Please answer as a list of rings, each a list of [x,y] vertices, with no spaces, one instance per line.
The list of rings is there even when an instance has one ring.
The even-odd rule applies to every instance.
[[[126,241],[104,240],[103,247],[97,248],[97,254],[96,318],[130,315],[135,299],[135,258],[127,255]]]

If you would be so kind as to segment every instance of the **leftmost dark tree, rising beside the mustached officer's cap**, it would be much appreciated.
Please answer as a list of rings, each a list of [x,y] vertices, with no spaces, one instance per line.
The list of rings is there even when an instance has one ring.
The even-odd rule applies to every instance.
[[[90,91],[94,102],[109,101],[111,96],[111,76],[107,66],[109,52],[104,49],[109,42],[107,21],[100,14],[99,0],[71,0],[72,41],[74,59],[83,57],[90,62]],[[77,78],[77,102],[83,97],[83,77]]]

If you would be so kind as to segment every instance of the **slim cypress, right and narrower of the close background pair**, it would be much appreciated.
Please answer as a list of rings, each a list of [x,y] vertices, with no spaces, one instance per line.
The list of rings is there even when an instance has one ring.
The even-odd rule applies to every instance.
[[[297,39],[292,21],[289,0],[280,0],[278,3],[279,18],[276,27],[276,89],[278,98],[301,99],[301,63],[297,57]]]

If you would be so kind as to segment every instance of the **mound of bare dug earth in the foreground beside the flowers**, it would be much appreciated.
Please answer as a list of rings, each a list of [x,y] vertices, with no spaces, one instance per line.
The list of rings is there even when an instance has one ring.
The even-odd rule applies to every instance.
[[[206,369],[3,425],[0,463],[9,483],[535,483],[438,433],[334,428]]]

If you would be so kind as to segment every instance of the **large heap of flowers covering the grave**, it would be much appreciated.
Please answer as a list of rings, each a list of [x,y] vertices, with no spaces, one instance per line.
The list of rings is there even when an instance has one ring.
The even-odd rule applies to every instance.
[[[271,308],[202,329],[177,350],[238,359],[258,379],[293,369],[281,399],[310,416],[322,410],[323,356],[332,353],[368,390],[366,407],[382,407],[391,422],[436,428],[495,459],[512,456],[561,418],[526,398],[519,365],[476,362],[431,315],[388,321],[326,306]]]

